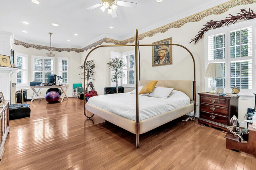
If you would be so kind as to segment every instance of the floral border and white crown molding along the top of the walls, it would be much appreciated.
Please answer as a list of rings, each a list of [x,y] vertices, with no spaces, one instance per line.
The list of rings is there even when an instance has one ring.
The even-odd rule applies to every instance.
[[[154,36],[156,33],[164,33],[166,31],[168,31],[171,28],[180,28],[182,27],[184,24],[186,23],[190,23],[190,22],[198,22],[200,20],[202,20],[203,18],[210,16],[210,15],[220,15],[223,14],[224,12],[227,12],[230,8],[234,8],[236,6],[240,6],[240,5],[247,5],[247,4],[253,4],[256,3],[256,0],[230,0],[228,2],[225,2],[223,4],[220,4],[222,2],[224,2],[225,0],[216,0],[214,3],[208,4],[202,4],[201,6],[199,6],[199,8],[196,10],[195,8],[193,8],[194,10],[196,10],[197,12],[200,10],[203,10],[201,12],[198,12],[196,14],[193,14],[193,9],[188,11],[186,14],[183,15],[176,15],[172,18],[168,18],[164,21],[158,22],[156,24],[151,25],[150,27],[147,27],[145,29],[142,29],[142,34],[140,34],[138,36],[139,40],[144,39],[145,37],[152,37]],[[215,7],[209,8],[209,6],[213,6],[213,5],[217,5]],[[220,4],[220,5],[218,5]],[[204,10],[205,8],[208,8],[207,10]],[[194,12],[196,12],[194,11]],[[190,15],[190,16],[188,16]],[[185,17],[188,16],[188,17]],[[182,19],[179,19],[182,18]],[[165,25],[163,25],[164,23],[166,23]],[[163,25],[160,27],[157,27],[158,25]],[[157,28],[155,28],[157,27]],[[153,29],[155,28],[155,29]],[[147,31],[150,30],[150,31]],[[108,38],[110,37],[110,38]],[[128,38],[130,37],[130,38]],[[107,34],[103,34],[100,37],[94,39],[91,41],[90,45],[87,45],[86,47],[79,49],[79,48],[56,48],[53,47],[54,51],[75,51],[77,53],[80,52],[84,52],[87,51],[88,49],[91,49],[93,47],[96,47],[97,45],[101,45],[102,43],[112,43],[114,45],[125,45],[128,43],[133,43],[134,42],[134,37],[133,35],[127,35],[126,37],[124,37],[124,40],[119,39],[118,37],[114,37],[111,35],[107,35]],[[36,48],[36,49],[46,49],[48,50],[50,47],[48,46],[42,46],[42,45],[34,45],[34,44],[29,44],[29,43],[25,43],[19,40],[15,40],[16,45],[23,45],[26,48],[32,47],[32,48]]]

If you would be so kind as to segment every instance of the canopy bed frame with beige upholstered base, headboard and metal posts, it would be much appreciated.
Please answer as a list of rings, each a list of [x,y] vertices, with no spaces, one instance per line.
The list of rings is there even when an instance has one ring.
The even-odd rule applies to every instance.
[[[190,102],[184,106],[178,106],[178,108],[174,108],[172,110],[166,110],[162,113],[157,113],[156,115],[153,115],[152,117],[147,117],[146,119],[141,119],[139,117],[139,86],[144,86],[144,84],[152,81],[152,80],[140,80],[140,46],[156,46],[156,45],[173,45],[173,46],[179,46],[188,53],[190,53],[192,60],[193,60],[193,71],[194,71],[194,80],[158,80],[157,86],[165,86],[167,88],[174,88],[175,90],[183,92],[182,94],[186,94],[186,96],[189,97]],[[135,30],[135,44],[134,45],[100,45],[98,47],[95,47],[92,49],[88,55],[86,56],[84,60],[84,66],[86,65],[86,61],[88,59],[88,56],[92,51],[95,49],[98,49],[100,47],[135,47],[135,84],[136,84],[136,109],[134,110],[136,112],[136,117],[133,119],[128,119],[127,117],[124,117],[122,115],[118,115],[115,113],[112,113],[111,111],[104,109],[102,107],[95,106],[90,103],[86,103],[84,100],[84,115],[87,118],[93,117],[94,114],[98,115],[99,117],[102,117],[103,119],[122,127],[123,129],[126,129],[127,131],[130,131],[131,133],[136,134],[136,147],[139,147],[139,135],[142,133],[146,133],[147,131],[150,131],[156,127],[159,127],[160,125],[163,125],[169,121],[172,121],[182,115],[185,115],[187,113],[190,113],[194,111],[193,117],[196,115],[196,73],[195,73],[195,60],[192,55],[192,53],[184,46],[179,44],[146,44],[146,45],[139,45],[138,40],[138,30]],[[85,76],[85,69],[84,68],[84,76]],[[84,77],[85,78],[85,77]],[[84,79],[85,80],[85,79]],[[84,82],[85,87],[85,82]],[[85,90],[85,89],[84,89]],[[115,94],[118,95],[118,94]],[[108,95],[104,95],[108,96]],[[176,95],[177,96],[177,95]],[[143,96],[146,97],[146,96]],[[140,98],[143,98],[140,96]],[[93,97],[94,98],[94,97]],[[150,97],[146,97],[150,98]],[[85,99],[85,98],[84,98]],[[91,100],[92,98],[90,98]],[[89,101],[90,101],[89,100]],[[142,99],[140,99],[142,100]],[[88,101],[88,102],[89,102]],[[94,101],[95,102],[95,101]],[[102,102],[102,101],[100,101]],[[177,102],[176,102],[177,103]],[[86,110],[92,113],[91,116],[86,115]]]

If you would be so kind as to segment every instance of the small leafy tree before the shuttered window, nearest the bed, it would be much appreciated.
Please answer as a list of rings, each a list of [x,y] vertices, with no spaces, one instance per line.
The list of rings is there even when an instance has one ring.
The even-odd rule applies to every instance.
[[[125,75],[122,71],[124,65],[122,58],[117,57],[110,59],[110,62],[108,62],[108,68],[114,71],[111,75],[111,81],[116,82],[116,93],[118,93],[118,79]]]

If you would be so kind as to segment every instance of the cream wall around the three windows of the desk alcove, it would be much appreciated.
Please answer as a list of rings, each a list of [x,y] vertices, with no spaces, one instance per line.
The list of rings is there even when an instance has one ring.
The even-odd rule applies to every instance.
[[[46,53],[48,53],[49,51],[42,49],[42,50],[38,50],[38,49],[34,49],[34,48],[26,48],[23,47],[22,45],[12,45],[12,49],[14,50],[14,55],[15,55],[15,59],[16,59],[16,53],[23,53],[23,54],[27,54],[28,55],[28,86],[26,87],[22,87],[22,88],[29,88],[29,90],[27,91],[27,96],[28,98],[31,98],[33,95],[33,91],[30,89],[29,87],[29,82],[32,82],[32,62],[31,62],[31,56],[32,55],[36,55],[36,56],[43,56],[46,57]],[[68,95],[72,95],[72,89],[73,89],[73,83],[80,83],[81,80],[78,76],[78,74],[80,73],[80,70],[77,68],[79,65],[81,65],[81,53],[76,53],[74,51],[71,52],[66,52],[66,51],[62,51],[62,52],[57,52],[57,51],[53,51],[53,53],[56,55],[54,57],[54,74],[58,74],[58,66],[57,66],[57,58],[58,57],[68,57],[68,84],[70,85],[68,87],[68,91],[67,94]],[[16,80],[14,79],[14,74],[12,76],[13,82],[16,82]],[[17,87],[16,90],[20,90],[20,87]],[[45,96],[47,89],[42,89],[41,90],[41,96]]]

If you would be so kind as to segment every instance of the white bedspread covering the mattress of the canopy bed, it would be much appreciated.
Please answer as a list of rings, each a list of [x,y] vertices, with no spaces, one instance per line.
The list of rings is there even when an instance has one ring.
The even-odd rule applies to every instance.
[[[91,97],[89,104],[100,107],[117,115],[136,121],[135,94],[120,93]],[[169,98],[154,98],[139,95],[139,120],[190,104],[189,97],[174,90]]]

